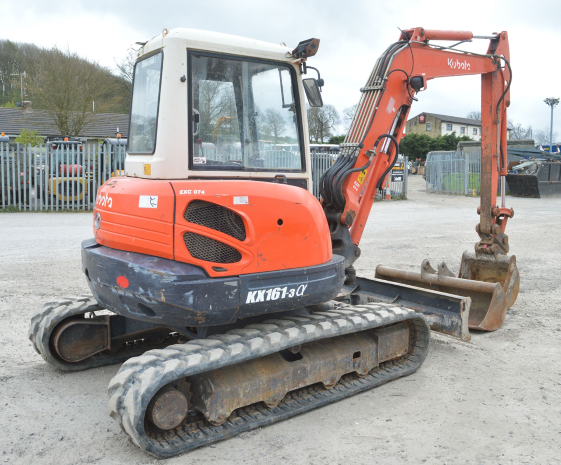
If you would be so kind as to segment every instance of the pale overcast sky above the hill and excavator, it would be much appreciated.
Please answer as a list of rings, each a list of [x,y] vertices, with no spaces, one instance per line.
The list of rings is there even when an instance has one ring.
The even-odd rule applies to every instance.
[[[376,58],[398,39],[397,27],[470,30],[477,35],[506,30],[513,81],[509,118],[535,130],[549,130],[546,97],[561,97],[561,1],[422,0],[380,1],[14,1],[0,0],[0,38],[42,47],[69,47],[114,67],[130,46],[163,28],[196,28],[242,35],[295,47],[321,40],[309,60],[325,79],[324,103],[339,112],[360,97]],[[467,47],[485,53],[486,40]],[[479,76],[431,80],[417,95],[410,117],[421,112],[466,116],[480,109]],[[561,105],[554,113],[561,140]]]

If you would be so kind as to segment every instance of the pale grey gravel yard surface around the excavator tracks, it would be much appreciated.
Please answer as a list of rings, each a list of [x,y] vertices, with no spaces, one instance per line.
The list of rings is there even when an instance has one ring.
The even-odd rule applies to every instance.
[[[357,273],[378,263],[457,271],[477,238],[479,199],[426,194],[379,202]],[[316,411],[165,461],[176,463],[559,463],[561,461],[561,198],[508,198],[507,232],[521,274],[503,327],[471,343],[433,333],[413,375]],[[80,242],[86,213],[0,214],[0,462],[158,463],[109,418],[119,366],[59,373],[27,340],[44,302],[88,292]],[[537,228],[536,228],[537,227]]]

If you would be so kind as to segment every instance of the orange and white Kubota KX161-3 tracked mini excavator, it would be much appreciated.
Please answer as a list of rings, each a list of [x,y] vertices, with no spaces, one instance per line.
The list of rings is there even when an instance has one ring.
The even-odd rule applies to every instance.
[[[321,178],[321,203],[310,193],[305,99],[322,104],[323,80],[306,64],[318,39],[291,50],[164,29],[141,43],[126,176],[99,189],[95,239],[82,243],[94,297],[45,304],[31,320],[37,352],[66,371],[125,361],[109,384],[109,413],[135,444],[169,457],[417,370],[427,321],[466,337],[470,295],[357,278],[353,263],[415,94],[433,77],[465,74],[483,76],[476,250],[483,263],[502,263],[512,216],[495,207],[506,165],[507,33],[487,37],[485,54],[430,43],[473,37],[402,31],[361,89],[342,151]],[[310,70],[318,79],[302,79]],[[228,125],[217,125],[224,117]],[[279,135],[289,151],[259,143]],[[435,276],[458,290],[503,289],[473,274]],[[399,290],[394,302],[383,286]],[[396,305],[410,294],[417,311]]]

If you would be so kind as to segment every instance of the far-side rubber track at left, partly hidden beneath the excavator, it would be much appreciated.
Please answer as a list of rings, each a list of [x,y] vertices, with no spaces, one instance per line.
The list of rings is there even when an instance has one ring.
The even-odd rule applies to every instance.
[[[146,352],[146,350],[154,348],[164,348],[170,344],[176,343],[177,338],[168,338],[162,344],[153,344],[149,341],[136,341],[123,345],[117,352],[100,352],[92,357],[86,358],[81,362],[65,362],[57,354],[50,350],[50,336],[58,323],[65,318],[103,310],[98,301],[91,294],[81,295],[79,297],[66,297],[61,300],[53,300],[47,302],[31,318],[29,327],[29,339],[33,344],[33,348],[40,354],[45,361],[59,371],[81,371],[88,368],[101,367],[114,363],[122,363],[126,359],[136,357]]]

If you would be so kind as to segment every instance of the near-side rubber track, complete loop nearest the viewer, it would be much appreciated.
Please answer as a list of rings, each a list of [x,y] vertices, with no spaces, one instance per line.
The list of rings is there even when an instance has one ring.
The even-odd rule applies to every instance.
[[[243,416],[232,415],[220,426],[199,422],[201,426],[192,428],[184,421],[171,431],[172,434],[163,432],[159,439],[146,434],[144,416],[148,403],[162,386],[173,380],[263,357],[295,345],[400,321],[411,324],[410,352],[399,361],[381,364],[362,379],[351,382],[342,379],[330,390],[312,390],[312,395],[296,399],[293,396],[291,402],[283,401],[274,408],[257,409],[255,413]],[[109,415],[141,449],[155,457],[171,457],[409,375],[421,366],[429,343],[430,328],[425,317],[411,309],[390,304],[366,304],[302,317],[266,320],[224,335],[175,344],[163,350],[149,350],[140,357],[128,359],[109,382],[107,408]]]

